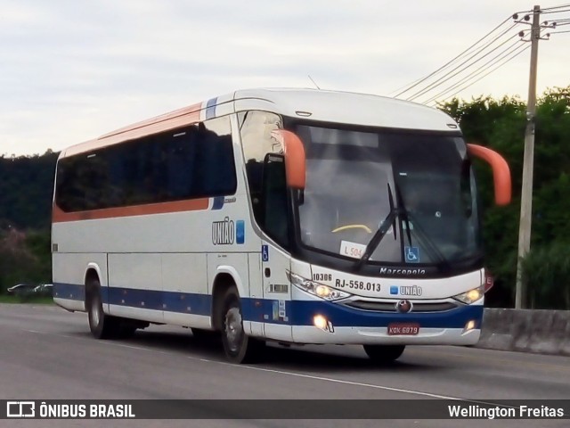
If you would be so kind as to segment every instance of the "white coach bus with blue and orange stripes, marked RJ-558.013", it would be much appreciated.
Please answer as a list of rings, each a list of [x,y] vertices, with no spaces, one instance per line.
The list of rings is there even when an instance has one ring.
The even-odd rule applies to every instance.
[[[253,89],[61,152],[53,296],[96,338],[150,324],[265,342],[470,345],[485,269],[471,158],[441,111],[375,95]]]

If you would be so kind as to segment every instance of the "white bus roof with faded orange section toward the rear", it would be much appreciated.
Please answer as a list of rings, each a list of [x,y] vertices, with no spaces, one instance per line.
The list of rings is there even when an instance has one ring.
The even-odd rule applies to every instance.
[[[459,129],[457,123],[443,111],[395,98],[320,89],[259,88],[239,90],[118,128],[94,140],[72,145],[63,150],[60,157],[92,152],[229,112],[248,110],[273,111],[285,116],[362,126],[433,131]]]

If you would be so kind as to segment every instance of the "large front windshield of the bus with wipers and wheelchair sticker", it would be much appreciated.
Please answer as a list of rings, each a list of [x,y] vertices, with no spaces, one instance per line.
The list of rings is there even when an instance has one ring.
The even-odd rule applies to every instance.
[[[480,257],[475,179],[458,133],[315,122],[292,130],[305,144],[306,185],[297,202],[305,247],[361,259],[382,235],[371,245],[372,263]],[[392,224],[377,234],[387,218]]]

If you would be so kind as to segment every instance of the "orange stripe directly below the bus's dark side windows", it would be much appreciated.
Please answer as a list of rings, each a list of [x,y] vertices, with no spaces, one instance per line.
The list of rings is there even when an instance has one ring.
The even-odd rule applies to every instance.
[[[166,214],[169,212],[208,210],[208,205],[208,198],[77,212],[65,212],[57,205],[53,205],[52,220],[53,223],[61,223],[64,221],[94,220],[100,218],[148,216],[151,214]]]

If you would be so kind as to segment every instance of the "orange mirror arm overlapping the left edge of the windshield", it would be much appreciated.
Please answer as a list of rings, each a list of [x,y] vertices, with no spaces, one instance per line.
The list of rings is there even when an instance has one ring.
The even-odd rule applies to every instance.
[[[287,185],[292,189],[304,190],[306,183],[305,146],[301,139],[284,129],[272,132],[280,144],[285,157]]]

